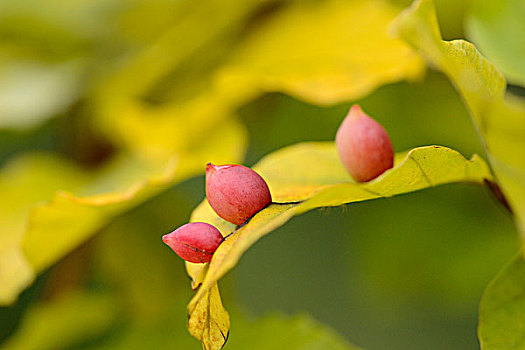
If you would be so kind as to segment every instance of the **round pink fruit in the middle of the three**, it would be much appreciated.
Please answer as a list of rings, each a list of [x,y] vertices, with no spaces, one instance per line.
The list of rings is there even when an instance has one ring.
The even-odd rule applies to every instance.
[[[242,165],[206,166],[206,197],[224,220],[242,225],[271,201],[266,181]]]

